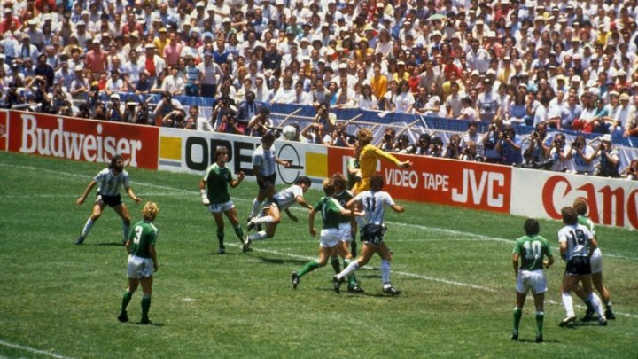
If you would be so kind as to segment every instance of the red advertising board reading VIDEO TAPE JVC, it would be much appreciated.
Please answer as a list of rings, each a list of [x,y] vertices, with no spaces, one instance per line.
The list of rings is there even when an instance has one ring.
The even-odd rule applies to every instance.
[[[329,147],[328,173],[346,174],[352,149]],[[377,172],[384,177],[384,191],[395,199],[409,199],[442,205],[510,212],[511,168],[461,160],[397,155],[411,160],[411,168],[397,168],[379,160]]]

